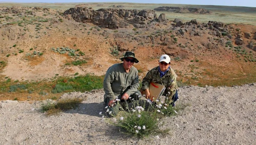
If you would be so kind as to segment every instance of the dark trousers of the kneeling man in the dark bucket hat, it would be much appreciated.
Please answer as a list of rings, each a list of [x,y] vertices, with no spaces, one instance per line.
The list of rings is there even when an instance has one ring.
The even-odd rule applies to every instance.
[[[138,95],[137,95],[138,94]],[[118,96],[118,99],[121,100],[121,97],[122,97],[123,94],[120,94]],[[116,116],[119,112],[119,107],[122,107],[122,104],[125,104],[125,103],[131,103],[132,100],[138,100],[139,99],[139,96],[141,97],[141,93],[139,90],[137,90],[135,93],[131,94],[131,98],[129,97],[129,99],[127,100],[121,100],[120,103],[116,103],[113,107],[108,107],[107,109],[109,109],[109,111],[112,111],[111,115],[110,116]],[[104,106],[108,106],[108,102],[110,102],[111,100],[109,98],[105,98],[104,99]],[[108,114],[108,113],[107,113]]]

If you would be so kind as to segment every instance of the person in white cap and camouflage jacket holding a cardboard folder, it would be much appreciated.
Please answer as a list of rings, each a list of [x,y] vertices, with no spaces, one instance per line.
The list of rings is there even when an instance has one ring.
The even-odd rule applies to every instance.
[[[162,84],[166,87],[166,90],[163,93],[163,96],[166,96],[165,103],[175,106],[175,101],[178,99],[177,92],[177,75],[170,67],[171,58],[168,55],[162,55],[159,59],[157,67],[154,67],[150,70],[147,75],[143,78],[142,81],[142,94],[145,95],[145,98],[148,99],[150,96],[148,87],[150,82],[157,84]]]

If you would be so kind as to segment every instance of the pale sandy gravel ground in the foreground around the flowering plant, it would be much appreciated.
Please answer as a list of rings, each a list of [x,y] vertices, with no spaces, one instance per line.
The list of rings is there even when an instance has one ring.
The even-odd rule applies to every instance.
[[[168,135],[137,139],[108,125],[103,90],[62,98],[87,99],[76,110],[55,116],[39,112],[41,102],[0,102],[0,145],[256,145],[256,83],[234,87],[185,86],[177,116],[166,117]]]

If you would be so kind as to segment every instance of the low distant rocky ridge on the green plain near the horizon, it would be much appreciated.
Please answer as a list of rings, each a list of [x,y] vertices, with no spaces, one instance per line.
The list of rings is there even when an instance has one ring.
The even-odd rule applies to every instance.
[[[195,14],[211,14],[207,9],[201,8],[185,8],[185,7],[171,7],[171,6],[160,6],[154,9],[155,11],[168,11],[175,13],[195,13]]]

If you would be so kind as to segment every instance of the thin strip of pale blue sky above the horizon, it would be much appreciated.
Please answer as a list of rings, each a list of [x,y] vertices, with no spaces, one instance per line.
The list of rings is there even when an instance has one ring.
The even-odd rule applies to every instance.
[[[170,3],[170,4],[256,7],[256,0],[0,0],[0,2],[14,2],[14,3],[126,2],[126,3]]]

